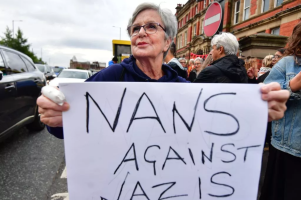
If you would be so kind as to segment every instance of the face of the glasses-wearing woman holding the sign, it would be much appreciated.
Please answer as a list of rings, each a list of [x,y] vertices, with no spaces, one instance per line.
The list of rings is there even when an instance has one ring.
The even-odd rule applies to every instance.
[[[155,10],[144,10],[139,13],[133,25],[142,26],[149,22],[157,22],[164,27],[160,15]],[[132,54],[136,59],[160,58],[163,60],[163,52],[167,51],[170,42],[170,39],[165,40],[165,32],[160,26],[153,34],[147,34],[143,28],[140,28],[139,33],[131,37]]]

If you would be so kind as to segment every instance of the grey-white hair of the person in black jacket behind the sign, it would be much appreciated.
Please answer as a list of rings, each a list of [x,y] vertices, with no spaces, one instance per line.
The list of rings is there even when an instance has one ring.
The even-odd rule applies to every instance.
[[[239,47],[237,38],[233,34],[225,32],[213,37],[211,46],[213,45],[215,45],[217,49],[223,46],[226,55],[236,55]]]

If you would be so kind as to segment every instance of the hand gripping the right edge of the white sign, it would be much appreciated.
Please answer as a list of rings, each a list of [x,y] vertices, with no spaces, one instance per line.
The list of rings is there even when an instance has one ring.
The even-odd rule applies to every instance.
[[[281,90],[279,83],[273,82],[262,84],[261,98],[268,102],[269,117],[268,120],[274,121],[281,119],[286,111],[286,101],[289,98],[289,91]]]

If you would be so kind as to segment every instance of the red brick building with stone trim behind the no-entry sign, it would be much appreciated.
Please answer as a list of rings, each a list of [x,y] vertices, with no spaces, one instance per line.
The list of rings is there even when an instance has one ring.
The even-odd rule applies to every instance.
[[[188,0],[178,4],[177,57],[210,52],[211,37],[204,34],[206,10],[213,0]],[[301,19],[301,0],[219,0],[223,31],[233,33],[244,56],[263,58],[284,47]]]

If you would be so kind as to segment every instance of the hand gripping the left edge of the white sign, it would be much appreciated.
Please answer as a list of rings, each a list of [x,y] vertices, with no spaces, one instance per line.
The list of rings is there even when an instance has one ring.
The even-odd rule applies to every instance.
[[[62,106],[54,103],[44,95],[37,99],[41,122],[50,127],[62,127],[62,112],[69,109],[69,104],[64,102]]]

